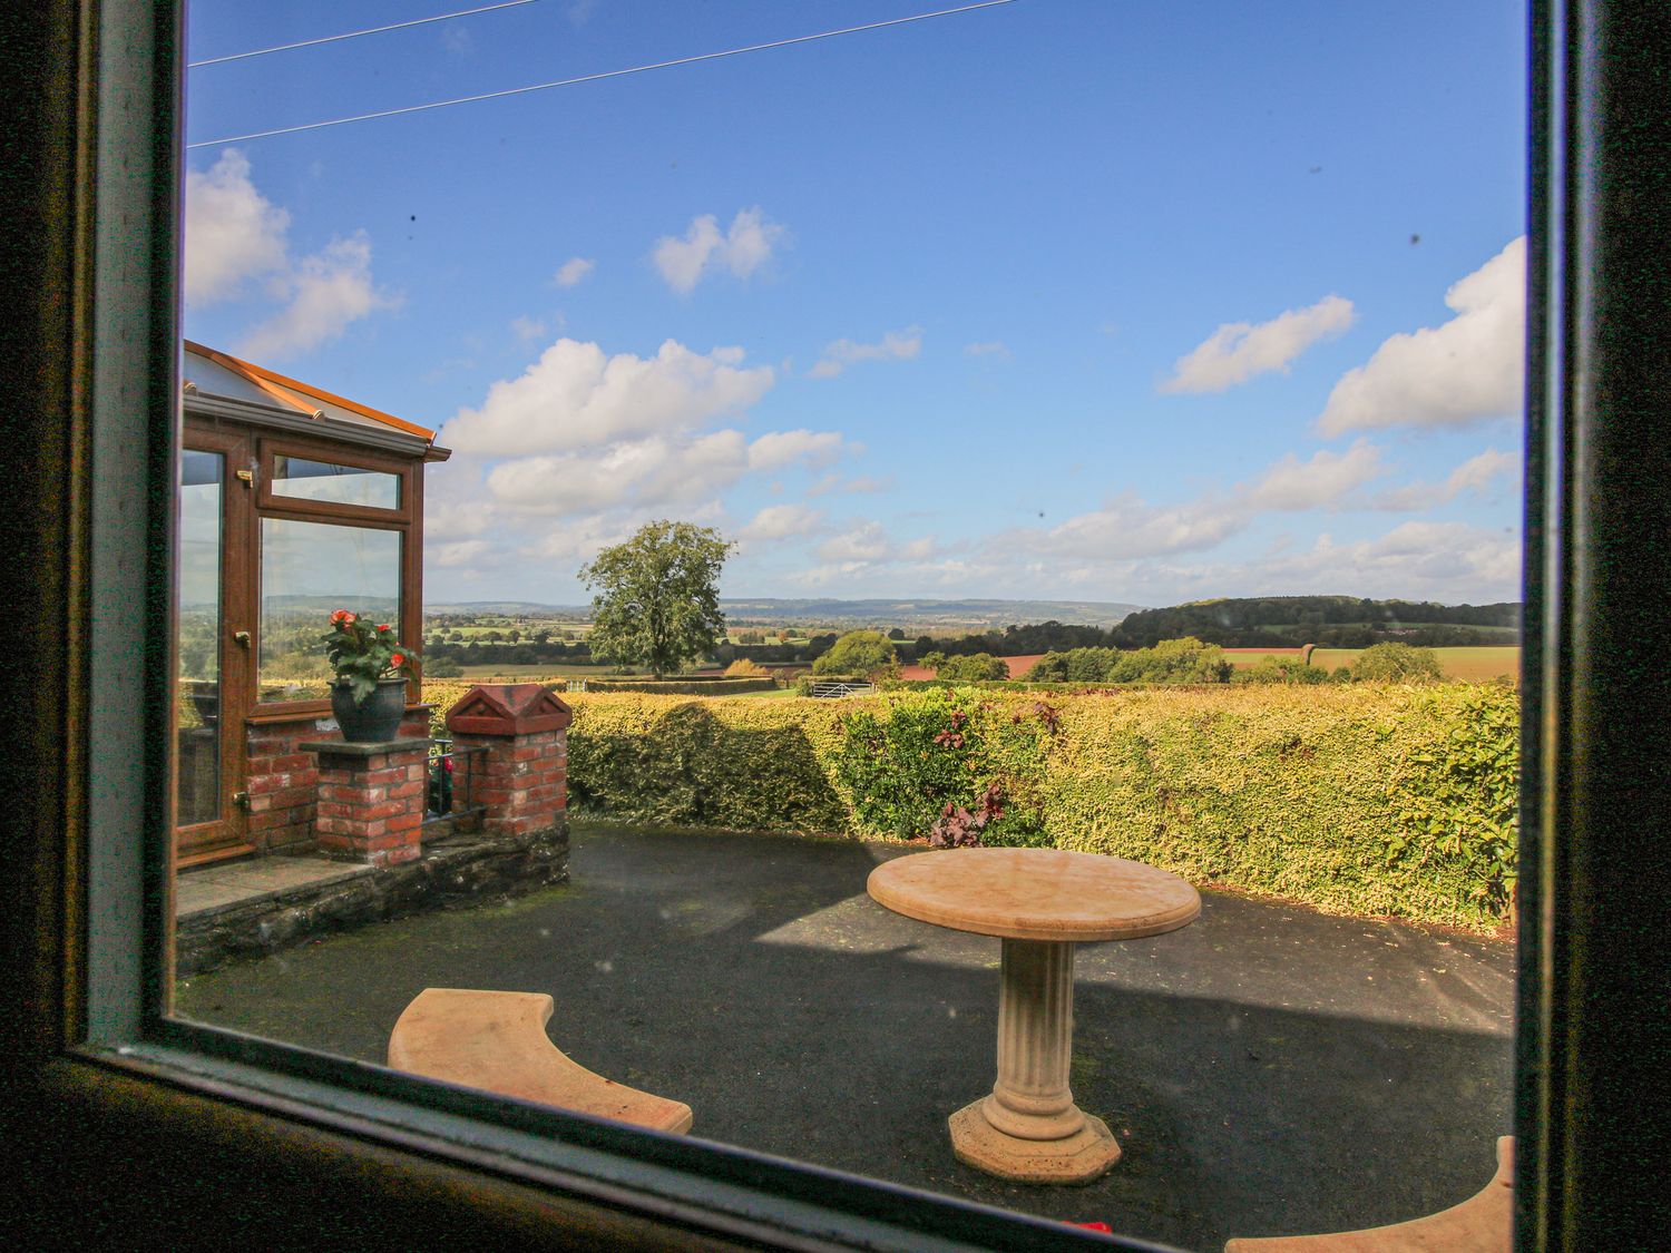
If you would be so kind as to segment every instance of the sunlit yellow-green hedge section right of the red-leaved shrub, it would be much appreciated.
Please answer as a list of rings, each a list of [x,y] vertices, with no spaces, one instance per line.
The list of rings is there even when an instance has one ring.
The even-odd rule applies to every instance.
[[[1514,890],[1519,698],[1497,685],[1061,702],[1058,847],[1492,931]]]

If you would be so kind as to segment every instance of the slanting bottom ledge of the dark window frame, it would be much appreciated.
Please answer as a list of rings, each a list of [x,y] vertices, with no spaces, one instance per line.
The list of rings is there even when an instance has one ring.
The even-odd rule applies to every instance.
[[[433,1231],[403,1233],[389,1216],[416,1221],[441,1205],[456,1208],[473,1243],[503,1233],[518,1248],[1160,1248],[231,1032],[164,1024],[164,1034],[201,1036],[214,1053],[85,1048],[42,1068],[38,1096],[62,1111],[55,1124],[77,1151],[120,1154],[129,1138],[169,1144],[196,1163],[189,1186],[227,1196],[237,1181],[294,1171],[307,1179],[299,1186],[319,1190],[323,1211],[343,1203],[341,1179],[368,1230],[398,1243],[423,1231],[411,1246],[433,1246]],[[316,1074],[256,1061],[277,1053]]]

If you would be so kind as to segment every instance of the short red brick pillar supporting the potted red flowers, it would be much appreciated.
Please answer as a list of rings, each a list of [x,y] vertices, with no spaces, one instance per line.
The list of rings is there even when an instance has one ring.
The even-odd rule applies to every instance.
[[[429,740],[312,740],[297,747],[319,753],[314,817],[319,852],[373,865],[416,860],[429,780]]]

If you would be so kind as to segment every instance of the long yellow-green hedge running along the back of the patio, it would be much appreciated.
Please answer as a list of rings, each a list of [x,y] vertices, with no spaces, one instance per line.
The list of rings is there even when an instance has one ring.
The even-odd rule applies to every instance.
[[[1512,897],[1519,698],[1502,685],[563,698],[583,812],[897,837],[998,782],[998,842],[1481,932]]]

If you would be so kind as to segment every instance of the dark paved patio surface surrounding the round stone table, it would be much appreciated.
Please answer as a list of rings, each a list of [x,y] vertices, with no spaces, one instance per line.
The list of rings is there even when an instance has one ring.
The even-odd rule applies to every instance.
[[[543,991],[592,1069],[693,1134],[1180,1248],[1454,1205],[1509,1131],[1512,946],[1203,894],[1079,949],[1073,1088],[1125,1156],[1086,1188],[959,1164],[991,1088],[999,942],[864,894],[897,845],[575,824],[571,884],[331,936],[182,984],[182,1014],[383,1061],[423,987]]]

